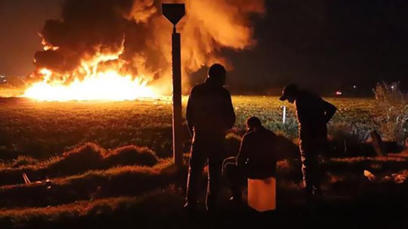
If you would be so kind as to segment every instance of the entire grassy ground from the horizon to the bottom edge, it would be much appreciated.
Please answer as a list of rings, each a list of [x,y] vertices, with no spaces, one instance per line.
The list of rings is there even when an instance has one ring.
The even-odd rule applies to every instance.
[[[339,108],[329,124],[333,138],[343,134],[364,139],[375,128],[373,100],[328,100]],[[274,214],[226,203],[225,180],[223,211],[215,218],[207,218],[202,205],[195,216],[181,208],[187,167],[177,169],[169,158],[168,99],[37,103],[10,98],[0,99],[0,228],[406,228],[407,152],[326,158],[325,195],[311,203],[301,192],[293,107],[275,97],[235,96],[233,103],[238,119],[228,138],[231,154],[237,152],[244,121],[251,115],[288,137],[286,156],[277,167]],[[286,124],[282,105],[288,106]],[[183,134],[187,153],[186,128]],[[185,164],[187,159],[185,154]]]

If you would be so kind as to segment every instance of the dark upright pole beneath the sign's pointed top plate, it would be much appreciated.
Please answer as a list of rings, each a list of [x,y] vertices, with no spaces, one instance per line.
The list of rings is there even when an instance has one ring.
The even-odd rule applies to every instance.
[[[172,69],[173,69],[173,159],[177,166],[183,165],[182,142],[182,62],[181,38],[176,33],[175,26],[172,34]]]

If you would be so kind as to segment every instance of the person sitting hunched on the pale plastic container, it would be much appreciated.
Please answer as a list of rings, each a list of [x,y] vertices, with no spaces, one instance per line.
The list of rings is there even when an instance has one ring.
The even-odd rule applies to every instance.
[[[238,156],[223,163],[223,174],[232,191],[231,201],[241,201],[241,187],[248,178],[276,177],[276,134],[263,127],[257,117],[248,118],[246,128]]]

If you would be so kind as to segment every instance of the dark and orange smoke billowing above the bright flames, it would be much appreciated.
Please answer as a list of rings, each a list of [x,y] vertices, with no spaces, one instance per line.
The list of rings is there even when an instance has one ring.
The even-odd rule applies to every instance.
[[[166,1],[177,3],[180,1]],[[243,50],[256,44],[250,18],[264,14],[264,0],[185,0],[186,16],[177,25],[182,34],[184,83],[190,73],[214,62],[227,64],[223,48]],[[172,25],[161,15],[162,1],[67,0],[57,20],[47,20],[40,36],[44,50],[35,66],[49,69],[64,83],[92,71],[115,69],[171,92]],[[33,74],[36,75],[36,74]],[[40,74],[37,74],[40,75]],[[54,80],[54,78],[48,80]],[[186,87],[185,87],[186,88]]]

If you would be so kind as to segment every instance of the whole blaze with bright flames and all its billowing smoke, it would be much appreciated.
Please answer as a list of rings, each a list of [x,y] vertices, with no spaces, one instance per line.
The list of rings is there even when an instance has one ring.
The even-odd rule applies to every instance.
[[[252,47],[251,14],[264,13],[264,0],[185,0],[182,68],[189,75],[219,62],[223,48]],[[171,93],[172,25],[161,1],[66,0],[62,16],[40,33],[43,50],[24,96],[43,101],[134,100]]]

